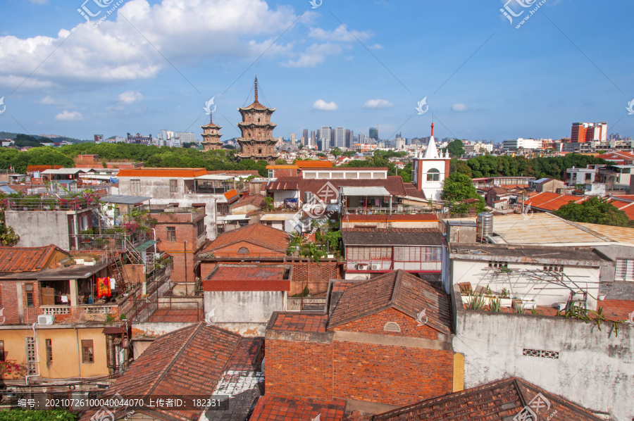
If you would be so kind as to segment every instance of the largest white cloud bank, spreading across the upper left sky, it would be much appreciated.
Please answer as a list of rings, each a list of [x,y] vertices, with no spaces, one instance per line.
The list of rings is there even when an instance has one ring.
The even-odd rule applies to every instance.
[[[89,5],[92,13],[99,11],[93,2]],[[96,20],[85,22],[77,13],[81,23],[70,31],[60,30],[56,37],[0,37],[0,84],[13,89],[20,84],[20,89],[76,89],[94,82],[155,77],[170,67],[162,56],[177,67],[208,57],[251,59],[271,44],[280,27],[289,27],[296,18],[292,8],[271,10],[265,0],[162,0],[152,5],[129,0],[97,28]],[[58,48],[62,43],[63,48]],[[267,54],[285,54],[289,49],[273,44]],[[37,72],[30,75],[35,68]]]

